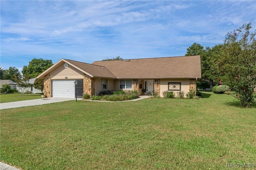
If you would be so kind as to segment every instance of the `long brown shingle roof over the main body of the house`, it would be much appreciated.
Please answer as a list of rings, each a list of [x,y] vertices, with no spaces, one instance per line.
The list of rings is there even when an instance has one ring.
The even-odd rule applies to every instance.
[[[201,78],[200,55],[95,61],[92,64],[108,68],[118,79]]]

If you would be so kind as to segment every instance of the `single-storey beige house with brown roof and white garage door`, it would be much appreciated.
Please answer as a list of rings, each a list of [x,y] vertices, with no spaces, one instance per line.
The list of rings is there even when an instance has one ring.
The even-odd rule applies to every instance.
[[[196,89],[201,78],[200,55],[95,61],[92,64],[61,59],[38,75],[44,79],[47,97],[75,97],[74,80],[78,81],[77,96],[87,93],[98,95],[104,90],[134,90],[144,95],[142,89],[163,91]]]

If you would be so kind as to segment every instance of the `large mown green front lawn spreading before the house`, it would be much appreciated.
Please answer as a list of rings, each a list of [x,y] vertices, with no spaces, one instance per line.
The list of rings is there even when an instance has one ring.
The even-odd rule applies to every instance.
[[[26,169],[229,169],[256,163],[256,108],[204,99],[67,101],[1,111],[1,161]]]

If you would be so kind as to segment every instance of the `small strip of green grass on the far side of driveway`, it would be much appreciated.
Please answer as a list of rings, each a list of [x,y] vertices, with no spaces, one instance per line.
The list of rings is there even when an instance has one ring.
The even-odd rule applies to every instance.
[[[20,93],[8,94],[8,93],[1,93],[0,94],[0,103],[7,103],[13,101],[23,101],[23,100],[32,100],[32,99],[40,99],[42,98],[41,95],[26,95]]]

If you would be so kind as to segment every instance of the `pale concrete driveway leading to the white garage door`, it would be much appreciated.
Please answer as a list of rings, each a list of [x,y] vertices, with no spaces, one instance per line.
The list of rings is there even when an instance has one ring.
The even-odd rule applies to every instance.
[[[44,105],[49,103],[57,103],[57,102],[70,101],[70,100],[76,100],[76,99],[50,97],[50,98],[43,98],[43,99],[14,101],[9,103],[0,103],[0,109],[2,110],[2,109],[10,109],[10,108],[16,108],[16,107]],[[78,99],[78,100],[81,100],[81,99]]]

